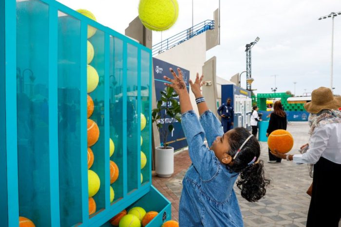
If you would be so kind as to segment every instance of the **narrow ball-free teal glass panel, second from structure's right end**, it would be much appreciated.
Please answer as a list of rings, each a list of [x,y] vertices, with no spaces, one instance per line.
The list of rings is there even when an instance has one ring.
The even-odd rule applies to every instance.
[[[127,44],[127,166],[128,193],[137,189],[137,47]],[[138,140],[137,140],[138,139]]]

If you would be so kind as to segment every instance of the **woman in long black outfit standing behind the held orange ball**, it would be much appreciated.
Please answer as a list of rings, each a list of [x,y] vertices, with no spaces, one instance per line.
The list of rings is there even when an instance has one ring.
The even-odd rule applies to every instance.
[[[283,111],[283,106],[281,101],[276,101],[273,105],[273,112],[270,115],[269,126],[266,130],[266,137],[268,137],[273,131],[277,129],[286,130],[286,114]],[[275,157],[271,154],[269,150],[269,163],[281,163],[282,158]]]

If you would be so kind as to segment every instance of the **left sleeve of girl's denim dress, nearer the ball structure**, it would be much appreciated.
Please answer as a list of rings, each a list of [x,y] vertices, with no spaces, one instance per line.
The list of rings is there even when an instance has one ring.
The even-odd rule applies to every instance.
[[[203,180],[211,179],[218,170],[218,162],[214,152],[204,144],[205,132],[193,110],[182,114],[181,125],[188,146],[189,157]]]

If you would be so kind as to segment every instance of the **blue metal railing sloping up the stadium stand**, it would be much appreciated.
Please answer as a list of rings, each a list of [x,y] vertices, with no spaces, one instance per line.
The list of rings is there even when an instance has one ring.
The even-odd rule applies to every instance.
[[[199,24],[194,25],[193,27],[190,27],[189,29],[186,29],[183,32],[180,32],[176,35],[171,36],[168,39],[162,40],[158,44],[155,44],[154,46],[152,46],[152,55],[165,52],[179,45],[180,43],[183,43],[186,40],[194,37],[195,35],[200,35],[203,32],[206,32],[207,30],[213,30],[213,29],[214,29],[214,20],[205,20]]]

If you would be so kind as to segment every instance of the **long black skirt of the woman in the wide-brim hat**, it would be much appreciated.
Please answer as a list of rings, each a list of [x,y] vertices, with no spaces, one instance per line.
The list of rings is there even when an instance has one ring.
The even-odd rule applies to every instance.
[[[314,165],[307,227],[338,227],[341,218],[341,164],[321,157]]]

